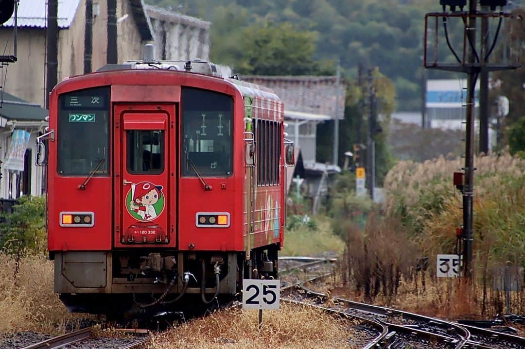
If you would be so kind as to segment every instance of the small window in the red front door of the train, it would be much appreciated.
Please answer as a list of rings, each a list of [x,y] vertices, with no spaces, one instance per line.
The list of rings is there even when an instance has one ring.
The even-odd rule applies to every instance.
[[[164,171],[164,130],[128,130],[128,172]]]

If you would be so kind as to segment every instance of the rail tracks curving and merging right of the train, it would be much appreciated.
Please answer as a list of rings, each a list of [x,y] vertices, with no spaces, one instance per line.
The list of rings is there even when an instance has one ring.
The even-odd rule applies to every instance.
[[[288,275],[290,271],[302,270],[306,277],[296,282],[288,282],[282,287],[281,290],[285,295],[283,300],[306,304],[354,319],[351,329],[360,333],[360,336],[363,335],[367,341],[356,344],[364,348],[525,349],[523,337],[315,292],[304,287],[304,283],[330,276],[325,266],[333,264],[333,260],[296,259],[296,261],[297,265],[286,268],[283,274]],[[324,270],[324,272],[312,275],[312,269]],[[355,323],[355,320],[358,321]]]

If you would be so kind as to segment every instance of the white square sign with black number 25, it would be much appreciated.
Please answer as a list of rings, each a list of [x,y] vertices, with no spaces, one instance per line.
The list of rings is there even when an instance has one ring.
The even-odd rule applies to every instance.
[[[279,280],[243,280],[243,309],[279,309]]]

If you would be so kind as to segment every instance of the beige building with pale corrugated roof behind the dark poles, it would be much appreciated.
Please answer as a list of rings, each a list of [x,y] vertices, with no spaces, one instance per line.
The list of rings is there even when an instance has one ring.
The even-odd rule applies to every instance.
[[[5,91],[30,103],[45,105],[46,1],[20,1],[18,6],[18,61],[10,64]],[[92,71],[106,64],[107,1],[93,0]],[[13,18],[0,27],[0,43],[13,52]],[[83,73],[86,6],[83,0],[58,2],[57,81]],[[117,52],[119,61],[140,58],[144,43],[153,39],[141,0],[117,1]]]

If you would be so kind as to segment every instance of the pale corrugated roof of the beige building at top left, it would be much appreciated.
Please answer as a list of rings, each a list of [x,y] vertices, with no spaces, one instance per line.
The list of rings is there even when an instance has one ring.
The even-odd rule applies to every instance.
[[[58,0],[58,27],[69,28],[80,0]],[[45,0],[20,0],[18,4],[18,27],[47,27],[47,1]],[[4,27],[14,26],[14,14],[9,18]]]

